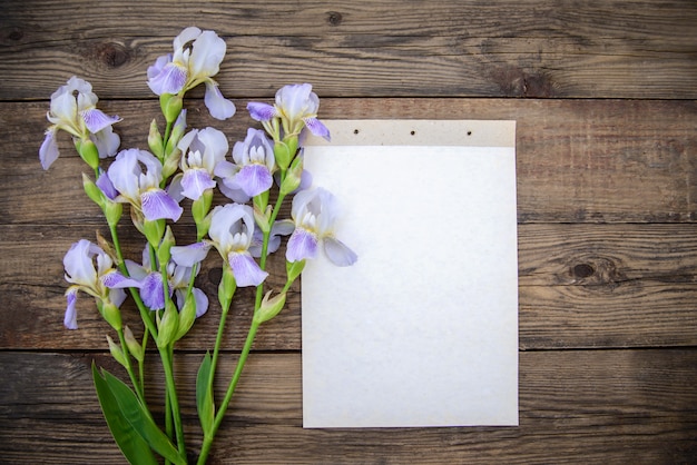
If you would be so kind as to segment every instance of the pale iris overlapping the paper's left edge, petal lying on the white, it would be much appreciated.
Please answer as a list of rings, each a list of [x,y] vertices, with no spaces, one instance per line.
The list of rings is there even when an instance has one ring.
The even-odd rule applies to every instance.
[[[315,258],[322,241],[330,261],[337,266],[353,265],[356,254],[334,237],[337,212],[335,197],[323,188],[296,194],[291,208],[295,230],[288,239],[286,259],[300,261]]]

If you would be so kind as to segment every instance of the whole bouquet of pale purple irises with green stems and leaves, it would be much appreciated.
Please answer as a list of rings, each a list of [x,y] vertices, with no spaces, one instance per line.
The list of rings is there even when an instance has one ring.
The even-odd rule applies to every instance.
[[[174,51],[159,57],[147,70],[147,85],[159,96],[161,116],[147,136],[149,150],[119,150],[120,138],[112,126],[121,119],[97,108],[91,86],[72,77],[51,96],[51,126],[39,149],[45,169],[59,156],[59,130],[72,136],[79,156],[91,172],[82,174],[87,196],[104,212],[110,239],[81,239],[63,258],[67,309],[65,326],[77,329],[78,293],[95,298],[96,307],[114,329],[107,336],[111,356],[124,366],[129,383],[92,364],[97,396],[107,424],[126,458],[134,464],[186,464],[184,428],[173,370],[174,346],[206,314],[208,297],[195,286],[202,261],[212,248],[222,257],[218,332],[212,350],[203,357],[196,376],[196,407],[203,431],[197,463],[206,462],[210,447],[234,395],[235,387],[262,324],[284,307],[286,294],[307,259],[322,248],[338,266],[348,266],[356,255],[335,237],[336,200],[323,188],[312,188],[303,168],[303,140],[307,132],[328,139],[330,131],[317,119],[320,101],[308,83],[279,89],[274,105],[249,102],[247,110],[259,128],[249,128],[235,142],[232,157],[226,136],[216,128],[187,130],[184,97],[205,85],[205,105],[210,115],[226,120],[235,105],[213,79],[225,56],[225,41],[214,31],[189,27],[174,40]],[[159,122],[158,122],[159,119]],[[164,125],[164,131],[160,127]],[[105,167],[109,157],[115,159]],[[214,207],[216,188],[232,201]],[[184,215],[189,199],[197,240],[177,245],[174,224]],[[288,219],[278,219],[281,207],[292,199]],[[117,225],[124,205],[145,248],[138,260],[124,256]],[[193,226],[192,226],[193,228]],[[193,231],[192,231],[193,233]],[[285,244],[286,281],[281,289],[265,289],[267,257]],[[229,374],[225,396],[214,397],[225,320],[238,287],[255,287],[254,314],[235,370]],[[125,326],[121,305],[130,296],[143,320],[143,337]],[[155,344],[165,374],[164,427],[146,402],[144,365],[148,343]],[[153,353],[155,350],[151,350]],[[129,385],[130,384],[130,385]]]

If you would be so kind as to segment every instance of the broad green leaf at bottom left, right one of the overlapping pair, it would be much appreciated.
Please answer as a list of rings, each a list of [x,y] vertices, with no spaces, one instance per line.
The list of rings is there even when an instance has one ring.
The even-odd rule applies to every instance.
[[[140,436],[140,438],[155,452],[166,459],[178,465],[186,465],[186,459],[179,455],[179,452],[174,444],[171,444],[171,441],[169,441],[167,435],[165,435],[165,433],[157,427],[149,412],[143,406],[143,404],[140,404],[136,394],[126,384],[124,384],[124,382],[108,373],[106,369],[102,368],[101,373],[104,374],[104,377],[97,372],[97,368],[92,364],[95,385],[100,386],[98,387],[98,392],[102,390],[108,393],[108,396],[110,396],[111,399],[109,416],[119,418],[118,424],[120,427],[118,428],[118,434],[132,434],[130,432],[134,432]],[[107,416],[106,410],[105,416]],[[141,457],[139,456],[135,457],[135,459],[131,459],[128,456],[127,458],[129,458],[129,461],[134,464],[151,463],[140,462]]]

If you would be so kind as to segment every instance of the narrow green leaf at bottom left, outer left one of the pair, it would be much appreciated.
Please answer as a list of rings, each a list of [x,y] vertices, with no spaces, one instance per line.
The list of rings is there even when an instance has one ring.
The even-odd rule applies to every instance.
[[[124,418],[119,410],[118,403],[111,394],[111,389],[97,372],[95,364],[92,364],[92,376],[95,378],[95,387],[97,388],[97,397],[99,398],[99,405],[101,405],[101,412],[104,412],[111,435],[126,459],[131,464],[157,465],[157,459],[150,446],[136,433],[126,418]]]

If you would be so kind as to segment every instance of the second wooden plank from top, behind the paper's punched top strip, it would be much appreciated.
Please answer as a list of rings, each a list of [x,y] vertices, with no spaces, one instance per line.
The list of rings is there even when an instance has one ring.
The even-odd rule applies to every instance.
[[[254,126],[246,101],[220,122],[188,101],[189,126],[214,126],[239,140]],[[107,101],[120,115],[124,148],[146,148],[151,101]],[[61,133],[61,158],[38,162],[48,105],[0,103],[0,133],[11,150],[0,172],[0,224],[101,224],[85,199],[86,170]],[[680,222],[697,219],[697,101],[514,99],[323,99],[321,118],[514,119],[520,222]],[[40,201],[37,201],[40,199]],[[65,206],[70,205],[70,211]]]

